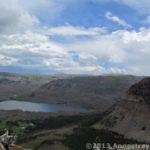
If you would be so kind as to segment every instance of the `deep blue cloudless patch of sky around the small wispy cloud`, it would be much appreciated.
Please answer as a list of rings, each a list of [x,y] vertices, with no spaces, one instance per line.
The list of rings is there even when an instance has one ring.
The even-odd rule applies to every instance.
[[[58,26],[69,23],[74,26],[84,27],[104,26],[107,27],[110,31],[116,30],[118,28],[121,29],[118,24],[110,22],[105,17],[105,13],[107,11],[116,14],[118,17],[126,19],[126,21],[131,24],[133,23],[136,29],[141,26],[139,19],[143,17],[143,15],[138,14],[136,10],[126,5],[122,5],[116,2],[103,2],[99,4],[89,0],[86,2],[81,1],[79,4],[72,5],[64,9],[64,11],[62,11],[57,16],[57,19],[54,18],[51,22],[49,22],[49,18],[45,18],[43,15],[40,16],[40,18],[41,21],[43,21],[44,18],[43,23],[48,26]]]

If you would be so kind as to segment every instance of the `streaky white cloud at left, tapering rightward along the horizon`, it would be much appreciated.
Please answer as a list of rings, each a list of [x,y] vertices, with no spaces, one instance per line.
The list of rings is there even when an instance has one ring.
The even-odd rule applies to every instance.
[[[121,69],[102,67],[98,64],[98,56],[85,51],[78,51],[79,60],[74,61],[70,49],[31,31],[0,35],[0,65],[38,67],[74,74],[124,73]]]

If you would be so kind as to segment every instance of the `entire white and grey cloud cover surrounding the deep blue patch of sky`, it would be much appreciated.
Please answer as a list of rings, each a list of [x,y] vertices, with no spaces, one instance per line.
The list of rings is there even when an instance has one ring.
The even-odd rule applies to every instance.
[[[149,1],[142,0],[142,5],[134,0],[114,1],[147,14],[145,19],[149,23],[150,12],[144,11]],[[109,31],[100,24],[43,23],[43,18],[48,17],[51,23],[66,8],[80,4],[78,0],[61,2],[60,6],[60,0],[30,3],[0,0],[0,66],[45,68],[73,74],[150,74],[149,27],[134,30],[130,23],[109,10],[103,17],[123,29]]]

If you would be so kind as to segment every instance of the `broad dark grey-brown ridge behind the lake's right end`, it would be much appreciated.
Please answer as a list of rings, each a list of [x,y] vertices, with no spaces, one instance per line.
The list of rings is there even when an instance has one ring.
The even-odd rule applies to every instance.
[[[77,103],[106,110],[142,77],[90,76],[53,80],[24,99],[49,103]],[[99,108],[100,107],[100,108]]]

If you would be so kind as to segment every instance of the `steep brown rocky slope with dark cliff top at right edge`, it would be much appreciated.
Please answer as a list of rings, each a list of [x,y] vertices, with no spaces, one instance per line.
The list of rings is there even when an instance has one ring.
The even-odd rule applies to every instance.
[[[117,102],[95,128],[105,128],[125,137],[150,143],[150,78],[131,86],[127,98]]]

